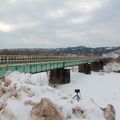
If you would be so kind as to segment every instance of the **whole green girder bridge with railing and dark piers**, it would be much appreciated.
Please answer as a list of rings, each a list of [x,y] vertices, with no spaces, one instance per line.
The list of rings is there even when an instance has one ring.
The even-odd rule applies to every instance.
[[[50,83],[65,84],[70,82],[70,70],[67,67],[72,66],[79,66],[79,72],[90,74],[91,70],[103,69],[103,60],[65,56],[2,55],[0,56],[0,78],[4,78],[7,71],[32,74],[50,71]]]

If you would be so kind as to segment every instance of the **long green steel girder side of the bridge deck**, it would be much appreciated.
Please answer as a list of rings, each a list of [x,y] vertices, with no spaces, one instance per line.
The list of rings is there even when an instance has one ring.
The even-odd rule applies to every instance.
[[[15,64],[1,64],[0,65],[0,78],[5,77],[7,71],[19,71],[26,73],[38,73],[43,71],[49,71],[52,69],[71,67],[84,63],[91,63],[95,60],[78,59],[78,60],[52,60],[48,62],[34,62],[34,63],[15,63]]]

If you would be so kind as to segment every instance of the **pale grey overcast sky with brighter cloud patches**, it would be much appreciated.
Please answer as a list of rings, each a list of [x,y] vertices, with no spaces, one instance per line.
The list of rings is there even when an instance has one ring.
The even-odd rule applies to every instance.
[[[0,49],[120,46],[120,0],[0,0]]]

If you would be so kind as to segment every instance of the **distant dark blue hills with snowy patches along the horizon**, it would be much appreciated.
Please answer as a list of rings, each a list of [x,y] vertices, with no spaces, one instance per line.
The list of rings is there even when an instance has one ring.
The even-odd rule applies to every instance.
[[[17,55],[120,55],[120,47],[98,47],[90,48],[85,46],[56,48],[56,49],[43,49],[43,48],[20,48],[20,49],[2,49],[0,54],[17,54]]]

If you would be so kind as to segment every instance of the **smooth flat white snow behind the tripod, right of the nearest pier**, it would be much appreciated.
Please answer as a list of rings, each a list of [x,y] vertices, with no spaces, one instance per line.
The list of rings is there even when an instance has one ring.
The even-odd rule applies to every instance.
[[[82,98],[92,98],[98,106],[113,104],[117,111],[116,120],[120,120],[120,73],[96,73],[91,75],[72,72],[71,83],[59,86],[58,89],[73,95],[74,89],[81,90]]]

